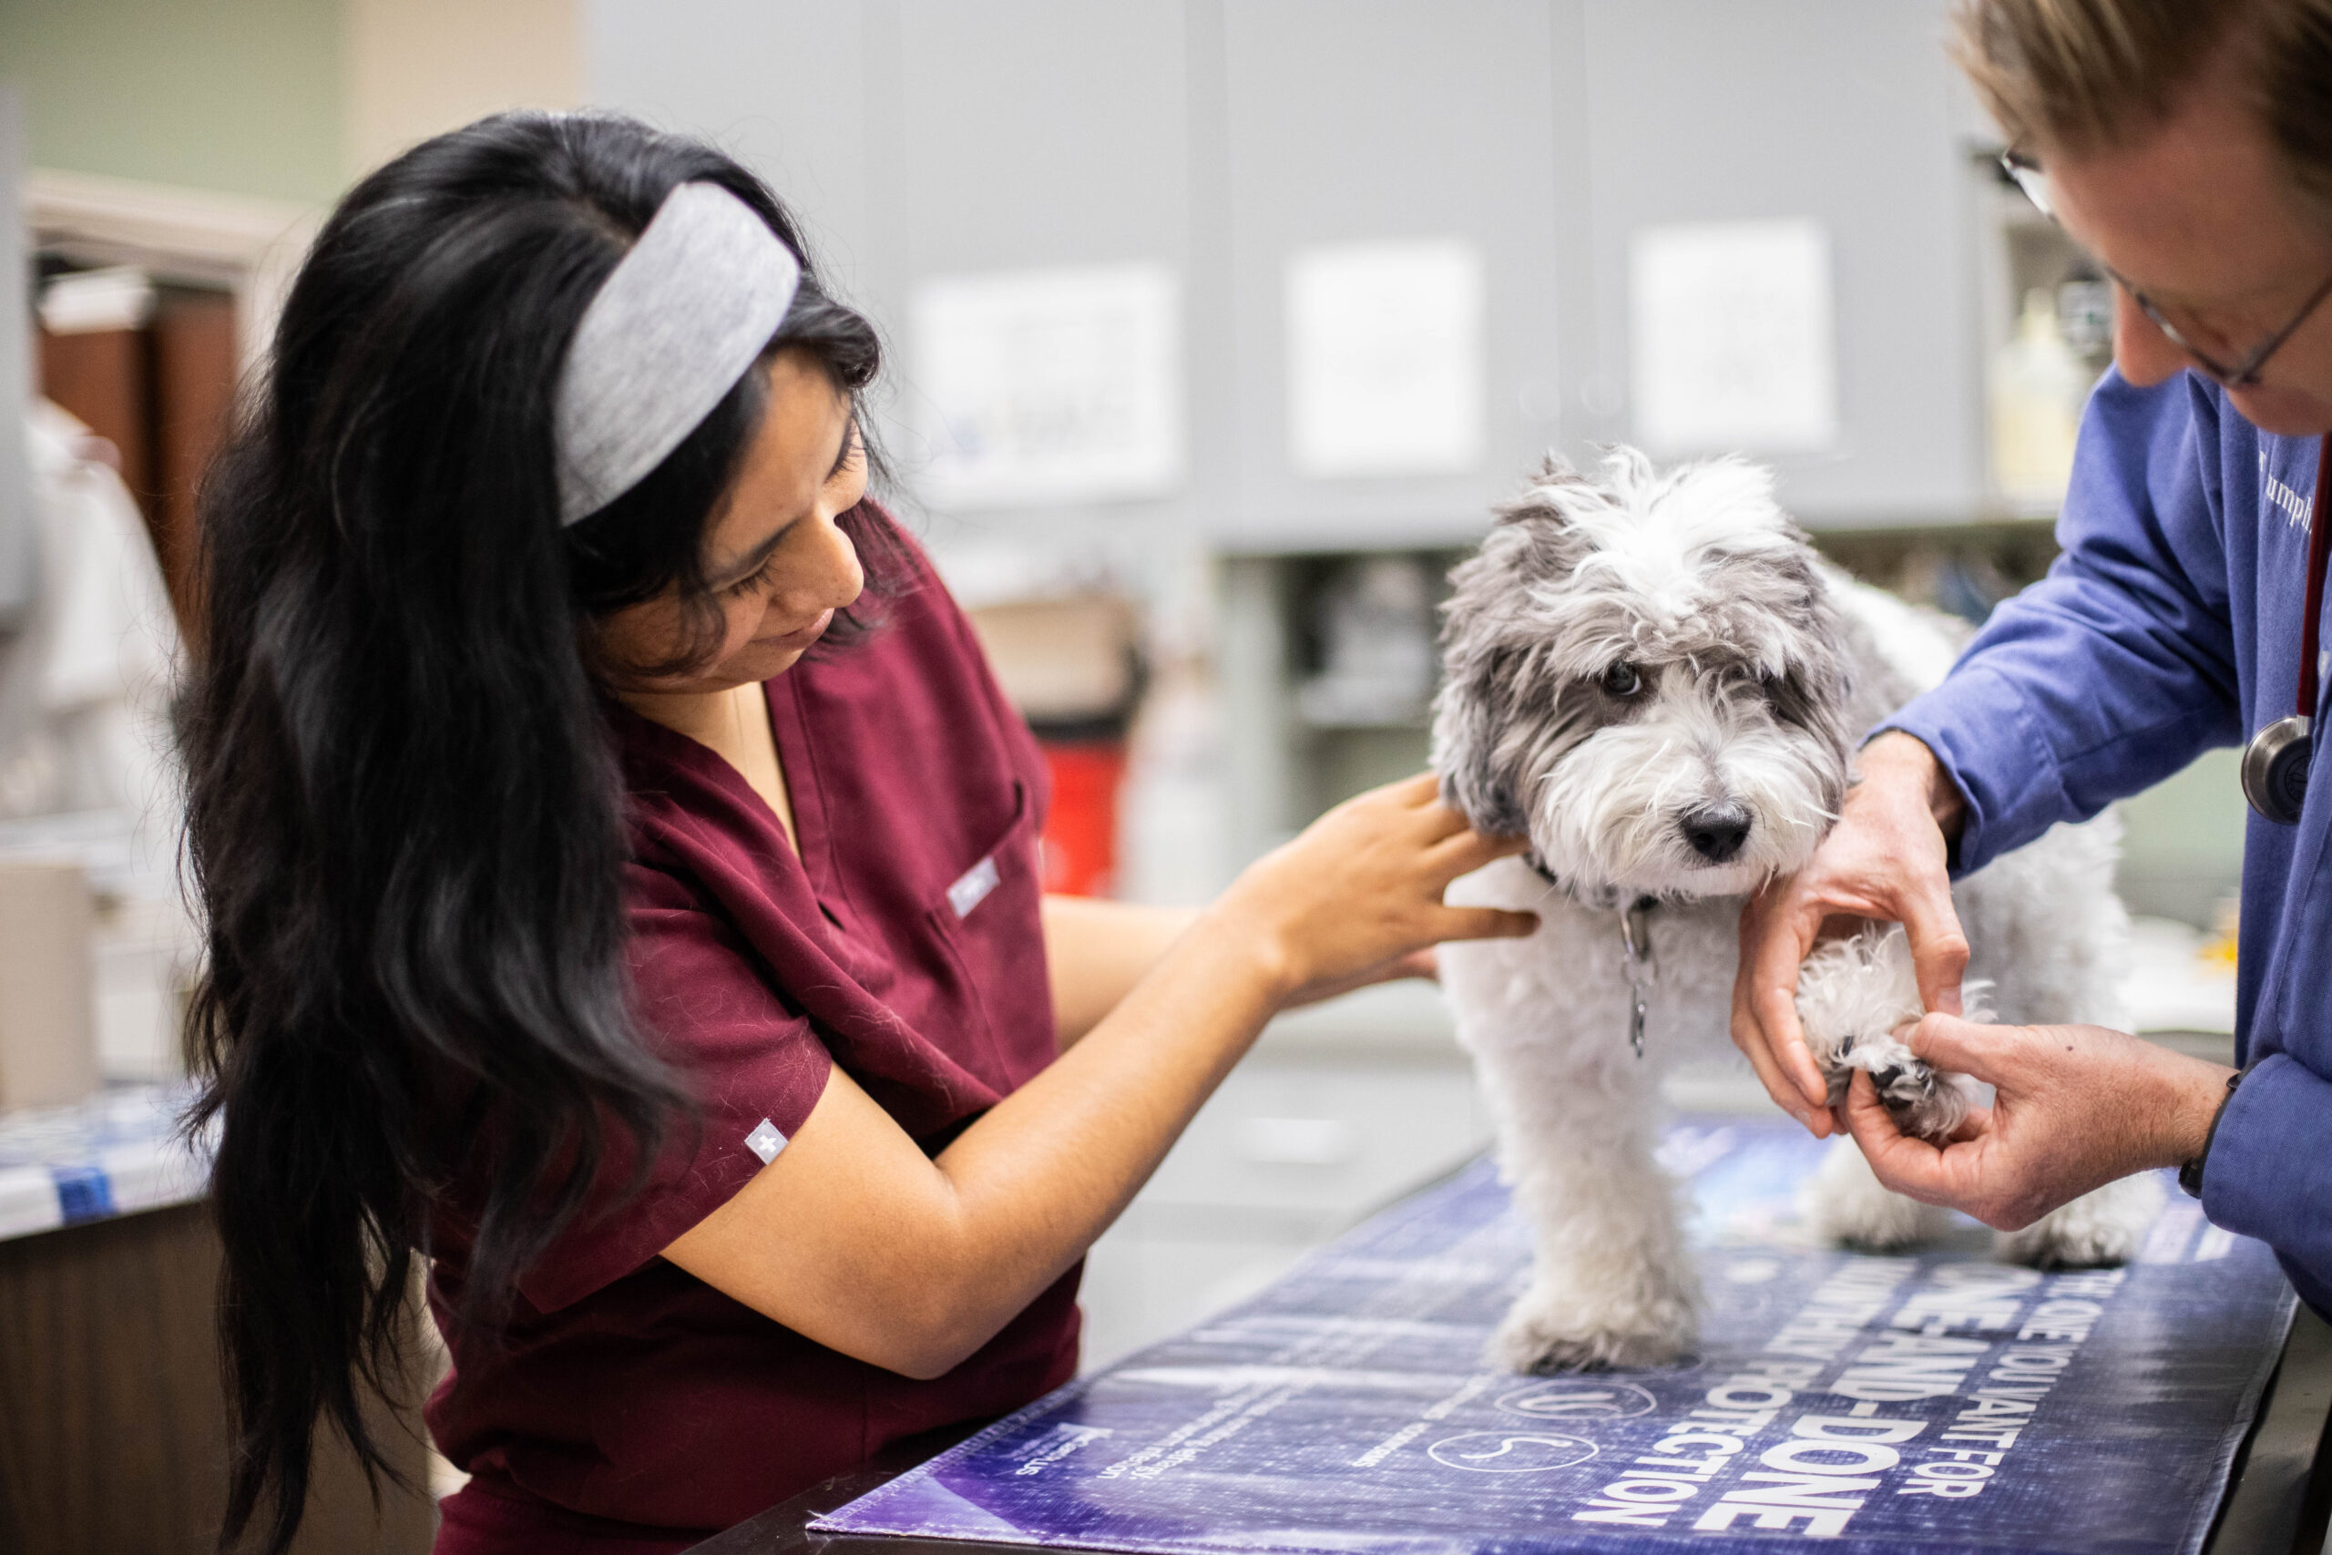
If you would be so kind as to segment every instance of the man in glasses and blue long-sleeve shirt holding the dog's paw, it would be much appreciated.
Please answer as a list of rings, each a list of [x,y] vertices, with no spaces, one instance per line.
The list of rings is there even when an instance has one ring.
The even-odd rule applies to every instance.
[[[2250,821],[2232,1091],[2227,1068],[2124,1033],[1929,1014],[1912,1047],[1999,1086],[1936,1149],[1894,1128],[1868,1077],[1824,1112],[1798,1033],[1796,968],[1826,916],[1903,921],[1929,1009],[1957,1012],[1950,872],[2250,739],[2299,688],[2332,431],[2332,7],[1978,0],[1964,21],[2027,191],[2117,282],[2115,371],[2050,576],[1882,725],[1828,842],[1751,902],[1735,1040],[1814,1133],[1845,1124],[1889,1187],[1994,1226],[2180,1166],[2215,1224],[2274,1245],[2332,1313],[2332,755],[2295,823]]]

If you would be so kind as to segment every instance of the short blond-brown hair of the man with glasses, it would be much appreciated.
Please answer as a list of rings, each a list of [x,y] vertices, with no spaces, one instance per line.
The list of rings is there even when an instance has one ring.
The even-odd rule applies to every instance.
[[[2302,194],[2332,210],[2332,0],[1961,0],[1954,56],[2013,145],[2117,145],[2227,49]]]

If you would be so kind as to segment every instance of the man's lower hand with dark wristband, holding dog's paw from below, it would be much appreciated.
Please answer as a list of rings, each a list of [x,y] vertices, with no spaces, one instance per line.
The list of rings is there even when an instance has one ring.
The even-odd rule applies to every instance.
[[[2227,1065],[2103,1026],[1931,1014],[1905,1040],[1936,1068],[1992,1084],[1992,1107],[1971,1110],[1954,1142],[1936,1147],[1898,1131],[1856,1070],[1842,1121],[1880,1182],[1996,1231],[2022,1231],[2129,1173],[2190,1161],[2227,1096]]]

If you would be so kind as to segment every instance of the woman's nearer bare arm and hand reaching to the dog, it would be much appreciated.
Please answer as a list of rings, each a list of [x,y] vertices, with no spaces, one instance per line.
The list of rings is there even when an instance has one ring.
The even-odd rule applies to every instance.
[[[1530,914],[1444,888],[1481,837],[1430,776],[1257,860],[1073,1049],[937,1159],[835,1070],[786,1149],[665,1257],[821,1345],[935,1378],[1084,1257],[1278,1009]]]

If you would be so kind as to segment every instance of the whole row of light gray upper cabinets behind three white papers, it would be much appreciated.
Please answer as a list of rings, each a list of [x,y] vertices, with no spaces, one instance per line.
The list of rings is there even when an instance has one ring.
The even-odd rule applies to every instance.
[[[919,280],[1182,277],[1182,490],[935,515],[942,548],[1283,553],[1462,541],[1546,445],[1625,436],[1628,245],[1665,221],[1831,233],[1842,438],[1777,462],[1796,511],[1973,515],[1975,200],[1943,30],[1943,0],[592,0],[585,42],[592,100],[721,138],[805,212],[891,333],[905,424]],[[1299,476],[1287,261],[1402,238],[1483,256],[1485,452]]]

